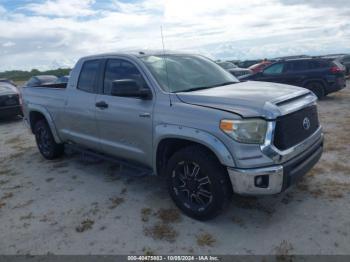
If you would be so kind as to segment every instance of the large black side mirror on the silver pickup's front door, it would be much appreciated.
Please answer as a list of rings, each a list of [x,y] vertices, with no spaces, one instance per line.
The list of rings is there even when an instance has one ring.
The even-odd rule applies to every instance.
[[[142,87],[133,79],[121,79],[112,82],[111,95],[150,99],[152,97],[152,92],[149,88]]]

